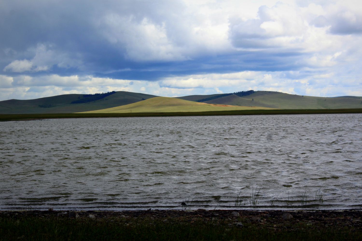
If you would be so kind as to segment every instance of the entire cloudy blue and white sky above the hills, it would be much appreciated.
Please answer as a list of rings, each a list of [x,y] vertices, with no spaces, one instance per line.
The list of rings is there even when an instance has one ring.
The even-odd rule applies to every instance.
[[[0,100],[362,96],[359,0],[0,0]]]

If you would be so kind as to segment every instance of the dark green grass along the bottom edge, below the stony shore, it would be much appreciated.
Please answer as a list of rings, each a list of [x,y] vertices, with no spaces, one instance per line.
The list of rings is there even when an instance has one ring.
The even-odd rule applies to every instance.
[[[0,218],[0,240],[362,240],[362,232],[350,227],[310,227],[275,231],[258,224],[239,228],[202,220]]]

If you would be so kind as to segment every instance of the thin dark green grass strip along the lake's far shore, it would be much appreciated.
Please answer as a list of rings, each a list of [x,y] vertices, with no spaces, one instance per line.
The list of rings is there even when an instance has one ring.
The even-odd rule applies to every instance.
[[[99,118],[99,117],[156,117],[156,116],[218,116],[218,115],[299,115],[362,113],[360,109],[258,109],[244,111],[204,111],[204,112],[160,112],[160,113],[53,113],[53,114],[5,114],[0,121],[58,119],[58,118]]]

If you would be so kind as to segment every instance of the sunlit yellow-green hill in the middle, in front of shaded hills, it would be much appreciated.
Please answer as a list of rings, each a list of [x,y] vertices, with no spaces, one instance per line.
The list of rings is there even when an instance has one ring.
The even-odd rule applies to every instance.
[[[193,102],[171,97],[155,97],[140,102],[108,109],[82,113],[158,113],[158,112],[203,112],[203,111],[233,111],[250,109],[270,109],[266,107],[229,106]]]

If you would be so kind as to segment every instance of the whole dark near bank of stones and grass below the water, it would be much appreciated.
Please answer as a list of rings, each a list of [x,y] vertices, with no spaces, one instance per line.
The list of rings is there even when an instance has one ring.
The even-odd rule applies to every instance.
[[[360,211],[0,211],[0,240],[361,240]]]

